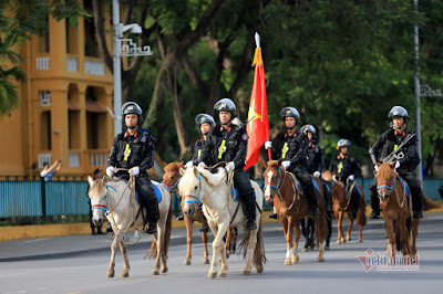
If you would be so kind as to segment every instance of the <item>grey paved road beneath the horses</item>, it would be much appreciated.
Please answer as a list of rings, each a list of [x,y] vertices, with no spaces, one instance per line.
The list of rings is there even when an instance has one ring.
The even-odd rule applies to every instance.
[[[106,277],[109,235],[1,242],[0,293],[442,293],[442,224],[443,213],[426,214],[422,221],[416,271],[385,272],[373,266],[365,272],[356,256],[365,255],[368,249],[374,253],[385,251],[382,220],[369,220],[362,243],[352,240],[336,244],[332,240],[324,263],[318,263],[318,252],[311,251],[299,253],[299,263],[286,266],[281,228],[278,222],[265,223],[265,272],[245,276],[245,261],[231,255],[228,276],[215,280],[206,276],[209,265],[200,264],[203,245],[198,235],[194,238],[193,264],[182,264],[186,252],[183,229],[173,231],[169,272],[159,276],[151,275],[153,261],[143,260],[147,237],[130,246],[128,279],[119,277],[123,269],[121,254],[116,259],[116,277]],[[353,235],[357,237],[357,229]],[[332,238],[337,238],[336,227]]]

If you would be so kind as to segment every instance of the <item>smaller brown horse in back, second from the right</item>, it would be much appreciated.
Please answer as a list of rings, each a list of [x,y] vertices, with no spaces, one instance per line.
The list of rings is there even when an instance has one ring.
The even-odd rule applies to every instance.
[[[327,178],[328,180],[330,179],[332,181],[332,211],[333,216],[337,219],[337,230],[338,230],[337,243],[340,244],[351,240],[351,231],[354,219],[352,218],[351,195],[350,192],[347,192],[347,190],[352,190],[353,187],[350,187],[351,189],[347,189],[347,187],[344,187],[344,183],[342,181],[329,177],[327,175],[328,172],[329,171],[323,172],[326,175],[322,175],[322,177]],[[357,212],[357,223],[360,229],[359,242],[363,242],[363,227],[367,224],[367,216],[365,216],[367,206],[364,203],[364,190],[363,187],[361,187],[357,182],[354,182],[354,185],[359,187],[361,191],[360,207],[359,211]],[[342,227],[344,216],[348,216],[349,219],[349,227],[346,239]]]

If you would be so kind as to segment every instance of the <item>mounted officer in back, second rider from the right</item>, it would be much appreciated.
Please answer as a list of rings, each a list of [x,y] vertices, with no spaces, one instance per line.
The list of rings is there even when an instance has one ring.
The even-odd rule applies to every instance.
[[[331,160],[329,166],[329,170],[334,174],[334,177],[340,176],[340,180],[344,183],[344,187],[348,188],[347,193],[351,193],[350,203],[352,206],[352,218],[357,217],[357,212],[360,208],[360,193],[358,188],[352,185],[356,180],[356,177],[361,175],[361,168],[359,160],[352,155],[349,155],[349,147],[351,146],[351,141],[348,139],[340,139],[337,143],[337,149],[340,150],[340,154]],[[352,188],[352,191],[349,189]]]

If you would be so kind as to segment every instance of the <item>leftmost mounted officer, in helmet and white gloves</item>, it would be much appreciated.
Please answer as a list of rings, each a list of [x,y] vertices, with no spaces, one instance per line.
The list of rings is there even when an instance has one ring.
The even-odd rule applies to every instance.
[[[142,108],[134,102],[127,102],[122,106],[122,116],[126,132],[119,134],[112,145],[106,175],[116,175],[125,180],[130,175],[135,176],[135,189],[142,208],[145,208],[147,216],[141,213],[144,225],[150,223],[146,232],[156,232],[156,223],[159,218],[158,202],[146,170],[154,166],[154,138],[151,132],[142,132]],[[128,171],[116,171],[115,168],[128,169]],[[116,171],[116,172],[115,172]]]

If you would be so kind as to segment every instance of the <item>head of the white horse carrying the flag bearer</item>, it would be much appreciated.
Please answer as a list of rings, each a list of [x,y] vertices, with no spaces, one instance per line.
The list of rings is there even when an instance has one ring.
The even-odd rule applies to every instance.
[[[179,168],[182,179],[178,182],[178,193],[182,196],[182,210],[186,217],[194,217],[202,196],[202,176],[196,167]]]

